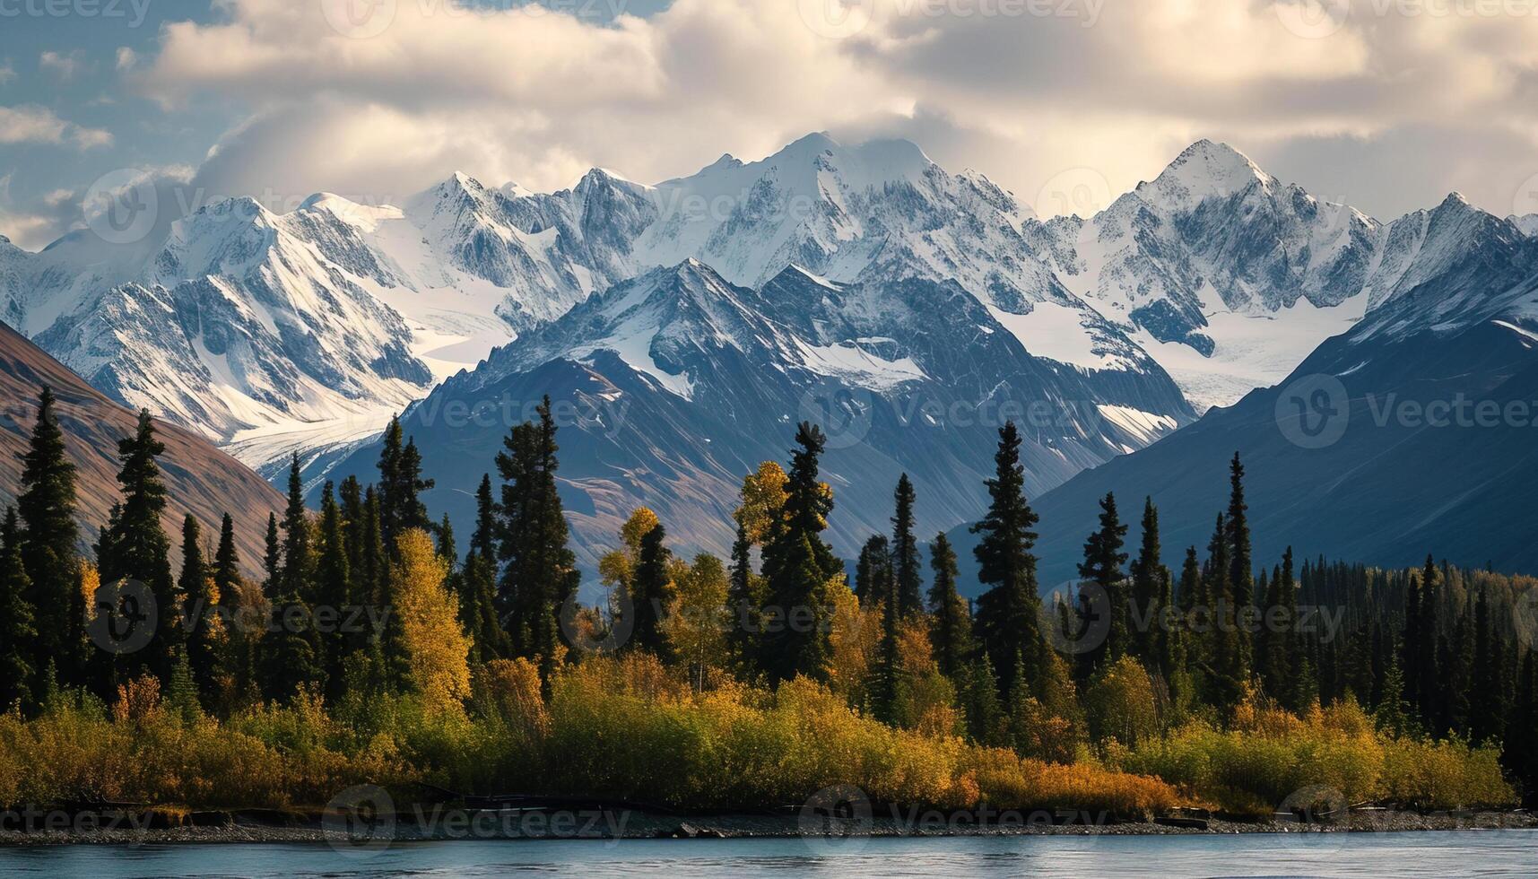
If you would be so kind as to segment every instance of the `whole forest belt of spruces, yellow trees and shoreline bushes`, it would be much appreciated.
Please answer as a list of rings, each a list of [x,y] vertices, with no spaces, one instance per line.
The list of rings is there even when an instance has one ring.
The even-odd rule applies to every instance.
[[[1538,791],[1535,582],[1253,559],[1237,456],[1207,546],[1166,554],[1152,499],[1134,536],[1107,496],[1077,593],[1043,600],[1003,426],[969,602],[906,476],[849,582],[803,423],[744,476],[729,559],[675,556],[641,508],[584,607],[549,400],[489,462],[463,553],[398,422],[378,480],[326,483],[318,513],[295,459],[260,582],[228,516],[188,517],[172,563],[148,413],[83,554],[52,409],[43,388],[0,530],[0,805],[318,805],[371,782],[758,808],[851,784],[1270,814],[1304,790],[1423,810]]]

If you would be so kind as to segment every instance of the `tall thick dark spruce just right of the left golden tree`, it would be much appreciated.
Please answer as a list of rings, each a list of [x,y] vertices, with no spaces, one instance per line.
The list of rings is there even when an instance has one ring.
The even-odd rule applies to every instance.
[[[500,599],[508,610],[512,647],[520,656],[543,657],[554,668],[560,651],[560,608],[577,591],[577,556],[568,548],[566,514],[555,488],[555,420],[551,399],[540,403],[537,423],[512,428],[497,456],[501,490]],[[548,679],[546,679],[548,683]]]

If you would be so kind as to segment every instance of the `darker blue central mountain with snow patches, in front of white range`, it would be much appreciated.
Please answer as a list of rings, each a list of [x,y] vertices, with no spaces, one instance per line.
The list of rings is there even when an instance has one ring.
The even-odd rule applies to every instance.
[[[726,551],[741,476],[784,459],[800,420],[829,433],[824,477],[844,511],[834,539],[852,550],[891,514],[904,471],[921,526],[970,516],[1006,417],[1026,436],[1032,493],[1192,419],[1157,365],[1110,380],[1032,354],[1007,317],[955,282],[846,285],[791,266],[755,289],[691,257],[498,348],[403,423],[437,480],[428,502],[468,519],[508,429],[549,394],[591,565],[643,503],[677,546]],[[334,476],[366,474],[377,454],[365,446]]]

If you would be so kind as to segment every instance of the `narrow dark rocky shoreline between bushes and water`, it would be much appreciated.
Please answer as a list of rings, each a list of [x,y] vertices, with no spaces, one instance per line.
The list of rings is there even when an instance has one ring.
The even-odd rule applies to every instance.
[[[1333,821],[1237,821],[1167,816],[1121,821],[1087,813],[917,813],[875,810],[866,816],[718,814],[667,816],[635,810],[444,810],[417,808],[357,822],[335,813],[94,813],[83,821],[17,830],[0,827],[0,847],[172,845],[172,844],[332,844],[338,848],[454,839],[751,839],[751,837],[947,837],[1047,834],[1237,834],[1237,833],[1413,833],[1453,830],[1533,830],[1527,811],[1421,814],[1353,810]]]

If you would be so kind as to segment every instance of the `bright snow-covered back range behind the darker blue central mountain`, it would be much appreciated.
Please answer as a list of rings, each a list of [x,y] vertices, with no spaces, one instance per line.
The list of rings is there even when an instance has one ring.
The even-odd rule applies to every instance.
[[[1275,383],[1397,289],[1436,276],[1447,251],[1490,234],[1433,229],[1433,214],[1381,225],[1198,142],[1098,216],[1041,222],[912,143],[812,134],[655,186],[594,169],[535,194],[452,174],[398,206],[321,192],[274,214],[232,199],[131,245],[88,229],[38,254],[0,242],[0,309],[109,396],[268,471],[291,451],[323,470],[520,334],[535,339],[492,357],[488,374],[534,368],[560,345],[624,348],[571,323],[560,339],[543,331],[597,292],[686,260],[758,292],[791,266],[892,296],[907,280],[950,283],[1030,356],[1077,373],[1097,405],[1115,397],[1166,425],[1190,416],[1187,400],[1201,411]],[[800,354],[780,351],[777,365]],[[880,389],[880,377],[864,380]]]

